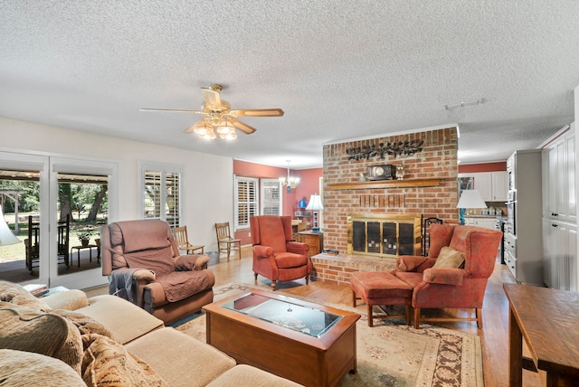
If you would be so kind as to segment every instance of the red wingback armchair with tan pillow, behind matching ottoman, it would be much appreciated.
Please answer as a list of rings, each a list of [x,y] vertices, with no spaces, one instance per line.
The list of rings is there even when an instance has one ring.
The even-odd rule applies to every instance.
[[[414,327],[420,326],[422,307],[473,307],[473,318],[432,317],[422,321],[476,320],[481,328],[482,300],[495,269],[502,232],[453,224],[432,224],[429,231],[429,256],[400,256],[393,271],[413,287]]]

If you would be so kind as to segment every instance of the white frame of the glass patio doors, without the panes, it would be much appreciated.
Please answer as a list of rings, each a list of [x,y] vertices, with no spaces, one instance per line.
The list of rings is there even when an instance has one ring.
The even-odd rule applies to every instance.
[[[93,259],[97,261],[94,269],[81,268],[76,260],[76,251],[71,251],[72,247],[80,245],[72,232],[67,235],[68,243],[65,247],[59,243],[59,188],[66,182],[83,181],[98,176],[104,179],[108,191],[108,214],[103,218],[103,222],[109,219],[116,219],[118,213],[118,165],[107,161],[67,158],[61,156],[39,156],[26,153],[0,152],[0,171],[13,171],[17,175],[28,176],[31,184],[38,184],[38,195],[32,195],[39,199],[38,210],[30,215],[20,216],[19,225],[28,231],[29,219],[32,224],[31,229],[36,230],[38,236],[33,236],[36,240],[35,249],[32,250],[33,242],[29,240],[31,234],[21,232],[20,239],[29,240],[16,246],[16,253],[20,254],[20,266],[14,268],[0,269],[0,278],[27,283],[42,283],[49,287],[64,286],[66,288],[90,288],[107,283],[107,278],[101,274],[97,250],[91,251]],[[7,179],[4,174],[3,177]],[[25,194],[25,193],[23,193]],[[31,195],[29,195],[31,196]],[[21,197],[22,200],[24,198]],[[26,198],[30,200],[31,197]],[[98,232],[99,225],[93,225],[95,232]],[[95,235],[95,237],[98,235]],[[42,242],[40,242],[42,241]],[[26,249],[29,246],[29,250]],[[7,247],[0,246],[0,254]],[[7,250],[7,249],[6,249]],[[67,254],[64,255],[63,252]],[[34,252],[32,254],[32,252]],[[81,254],[88,253],[83,250]],[[68,256],[65,260],[64,257]],[[31,258],[33,257],[33,258]],[[28,265],[28,262],[32,265]],[[26,264],[24,265],[24,262]],[[75,268],[72,268],[75,265]],[[0,267],[8,268],[3,262]],[[23,273],[20,271],[25,271]]]

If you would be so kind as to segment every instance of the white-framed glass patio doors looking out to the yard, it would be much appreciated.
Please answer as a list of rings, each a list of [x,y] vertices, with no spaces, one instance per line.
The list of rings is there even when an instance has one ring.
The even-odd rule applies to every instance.
[[[3,206],[5,220],[22,241],[0,246],[0,278],[67,288],[106,283],[100,226],[117,216],[117,175],[118,165],[106,161],[0,152],[0,198],[13,202]]]

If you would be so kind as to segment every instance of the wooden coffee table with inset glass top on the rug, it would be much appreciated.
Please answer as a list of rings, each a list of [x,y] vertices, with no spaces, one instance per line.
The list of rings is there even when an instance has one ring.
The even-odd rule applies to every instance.
[[[246,363],[307,386],[356,373],[354,312],[250,289],[204,306],[206,341]]]

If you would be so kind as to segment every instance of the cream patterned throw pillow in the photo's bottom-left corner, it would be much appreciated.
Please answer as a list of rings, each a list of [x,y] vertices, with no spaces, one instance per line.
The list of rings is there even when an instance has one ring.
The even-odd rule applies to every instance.
[[[86,386],[60,360],[43,354],[0,349],[0,384],[6,386]]]

